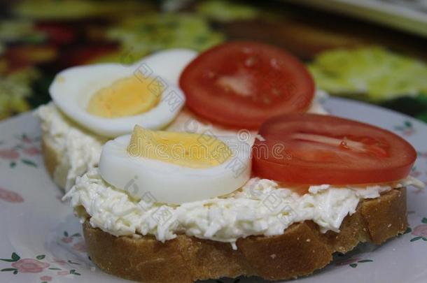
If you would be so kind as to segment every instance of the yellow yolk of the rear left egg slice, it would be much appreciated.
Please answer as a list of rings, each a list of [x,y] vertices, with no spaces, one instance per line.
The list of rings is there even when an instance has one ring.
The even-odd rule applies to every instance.
[[[154,108],[163,90],[162,83],[153,78],[122,78],[99,89],[90,98],[87,112],[106,118],[138,115]]]

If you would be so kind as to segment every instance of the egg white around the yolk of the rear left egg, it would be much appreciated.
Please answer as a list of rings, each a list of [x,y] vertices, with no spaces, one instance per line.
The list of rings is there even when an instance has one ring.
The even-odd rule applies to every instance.
[[[162,129],[174,120],[185,104],[186,98],[177,82],[183,68],[196,55],[193,50],[166,50],[132,66],[94,64],[68,68],[56,75],[49,88],[50,96],[67,117],[100,136],[115,138],[130,133],[135,124],[146,129]],[[139,115],[118,118],[98,117],[87,112],[87,103],[93,94],[121,78],[141,75],[141,64],[151,70],[146,75],[160,78],[166,85],[157,106]]]

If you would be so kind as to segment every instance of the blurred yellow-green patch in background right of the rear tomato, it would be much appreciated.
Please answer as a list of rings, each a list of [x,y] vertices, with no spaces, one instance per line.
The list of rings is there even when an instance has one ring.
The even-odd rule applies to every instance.
[[[319,88],[368,101],[427,95],[427,65],[381,47],[328,50],[309,64]]]

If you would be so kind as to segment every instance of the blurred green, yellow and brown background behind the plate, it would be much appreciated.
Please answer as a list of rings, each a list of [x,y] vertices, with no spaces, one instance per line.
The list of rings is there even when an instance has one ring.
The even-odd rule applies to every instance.
[[[50,100],[55,73],[165,48],[271,43],[316,85],[427,122],[427,1],[0,1],[0,119]]]

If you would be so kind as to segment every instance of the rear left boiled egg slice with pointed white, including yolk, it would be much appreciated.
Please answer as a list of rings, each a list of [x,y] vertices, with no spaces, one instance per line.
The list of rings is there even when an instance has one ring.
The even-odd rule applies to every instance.
[[[101,136],[130,133],[135,124],[162,129],[185,103],[174,82],[194,56],[192,50],[167,50],[138,65],[69,68],[57,74],[50,96],[66,116]]]

